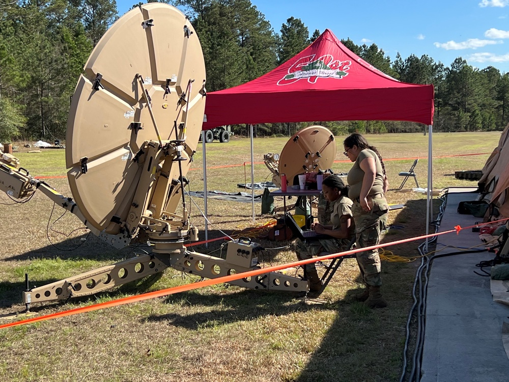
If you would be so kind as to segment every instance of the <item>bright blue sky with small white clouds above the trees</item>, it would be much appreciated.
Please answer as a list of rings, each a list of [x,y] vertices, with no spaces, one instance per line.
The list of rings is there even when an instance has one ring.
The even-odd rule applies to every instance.
[[[133,0],[117,0],[122,15]],[[384,50],[391,60],[399,52],[428,54],[450,66],[461,57],[483,69],[509,72],[509,0],[251,0],[276,33],[289,17],[309,31],[330,29],[338,39]]]

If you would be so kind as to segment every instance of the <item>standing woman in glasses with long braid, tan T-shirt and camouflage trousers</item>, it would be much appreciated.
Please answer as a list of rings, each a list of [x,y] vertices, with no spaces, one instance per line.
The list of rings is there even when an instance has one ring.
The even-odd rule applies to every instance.
[[[354,162],[348,173],[353,201],[352,215],[355,222],[357,248],[371,247],[380,241],[380,231],[387,221],[389,206],[385,200],[388,182],[385,168],[377,149],[370,146],[359,133],[353,133],[343,142],[344,154]],[[357,253],[364,292],[352,295],[356,301],[363,301],[371,308],[385,308],[380,286],[380,256],[378,250]]]

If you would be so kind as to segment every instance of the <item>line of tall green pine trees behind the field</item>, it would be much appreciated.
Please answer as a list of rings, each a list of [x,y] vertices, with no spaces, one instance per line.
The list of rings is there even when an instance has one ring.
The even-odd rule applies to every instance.
[[[274,31],[249,0],[166,0],[178,6],[199,36],[207,91],[237,86],[292,58],[315,41],[298,18]],[[133,4],[136,7],[143,3]],[[65,138],[74,87],[92,49],[119,17],[115,0],[0,0],[0,142]],[[509,122],[509,73],[477,69],[461,57],[450,66],[400,54],[392,61],[376,44],[350,50],[384,73],[434,84],[437,131],[499,130]],[[315,121],[335,134],[422,131],[410,122]],[[257,135],[289,135],[308,123],[257,126]],[[247,126],[232,126],[247,134]]]

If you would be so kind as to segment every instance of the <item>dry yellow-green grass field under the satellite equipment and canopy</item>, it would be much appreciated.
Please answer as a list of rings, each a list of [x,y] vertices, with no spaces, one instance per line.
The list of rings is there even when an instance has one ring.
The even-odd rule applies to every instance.
[[[434,134],[434,188],[475,186],[455,179],[455,171],[482,169],[497,145],[500,132]],[[351,163],[338,145],[335,172],[348,172]],[[413,160],[426,157],[428,136],[423,134],[367,135],[385,159],[390,187],[399,187],[400,171]],[[263,154],[280,152],[286,138],[255,139],[254,161]],[[22,145],[20,145],[22,147]],[[25,150],[26,151],[26,150]],[[202,149],[188,173],[190,190],[203,189]],[[22,167],[35,176],[65,175],[64,150],[19,152]],[[233,138],[228,144],[207,144],[209,190],[241,191],[237,183],[250,182],[250,167],[214,168],[250,162],[249,140]],[[419,185],[426,186],[427,160],[415,169]],[[264,165],[255,165],[256,182],[270,180]],[[65,178],[47,182],[70,195]],[[413,187],[409,179],[405,188]],[[243,190],[242,190],[243,191]],[[149,248],[144,243],[118,251],[93,235],[71,214],[65,214],[42,194],[24,204],[12,204],[0,195],[0,315],[22,312],[24,274],[31,285],[72,276],[82,271],[132,257]],[[386,231],[384,242],[418,236],[426,231],[426,196],[389,191],[389,203],[404,204],[390,212],[389,223],[399,229]],[[194,198],[203,210],[203,199]],[[276,200],[276,205],[282,205]],[[438,202],[434,202],[436,208]],[[235,234],[274,216],[261,216],[251,204],[210,200],[209,238]],[[203,239],[204,219],[192,205],[191,219]],[[433,228],[430,228],[432,231]],[[295,260],[292,243],[256,239],[267,248],[264,264]],[[221,241],[195,246],[202,253],[220,248]],[[387,248],[393,255],[418,256],[419,242]],[[270,250],[271,248],[282,249]],[[2,381],[396,381],[402,366],[405,322],[412,305],[411,288],[416,262],[382,262],[383,293],[389,307],[371,310],[351,303],[347,292],[359,287],[355,260],[347,259],[321,298],[322,304],[306,304],[286,293],[267,293],[215,285],[145,302],[58,318],[0,330],[0,380]],[[323,268],[319,268],[321,271]],[[298,274],[297,269],[291,270]],[[37,315],[65,311],[97,302],[192,283],[194,277],[169,269],[160,278],[126,285],[90,299],[65,305],[33,307]],[[19,317],[20,319],[22,317]],[[13,319],[0,318],[0,324]]]

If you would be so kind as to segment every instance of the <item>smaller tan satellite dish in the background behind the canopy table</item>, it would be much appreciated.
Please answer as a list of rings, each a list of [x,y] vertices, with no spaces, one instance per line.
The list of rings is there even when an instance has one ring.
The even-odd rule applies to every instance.
[[[292,185],[298,174],[330,169],[335,157],[334,134],[323,126],[308,126],[292,135],[281,150],[278,172],[286,174]]]

